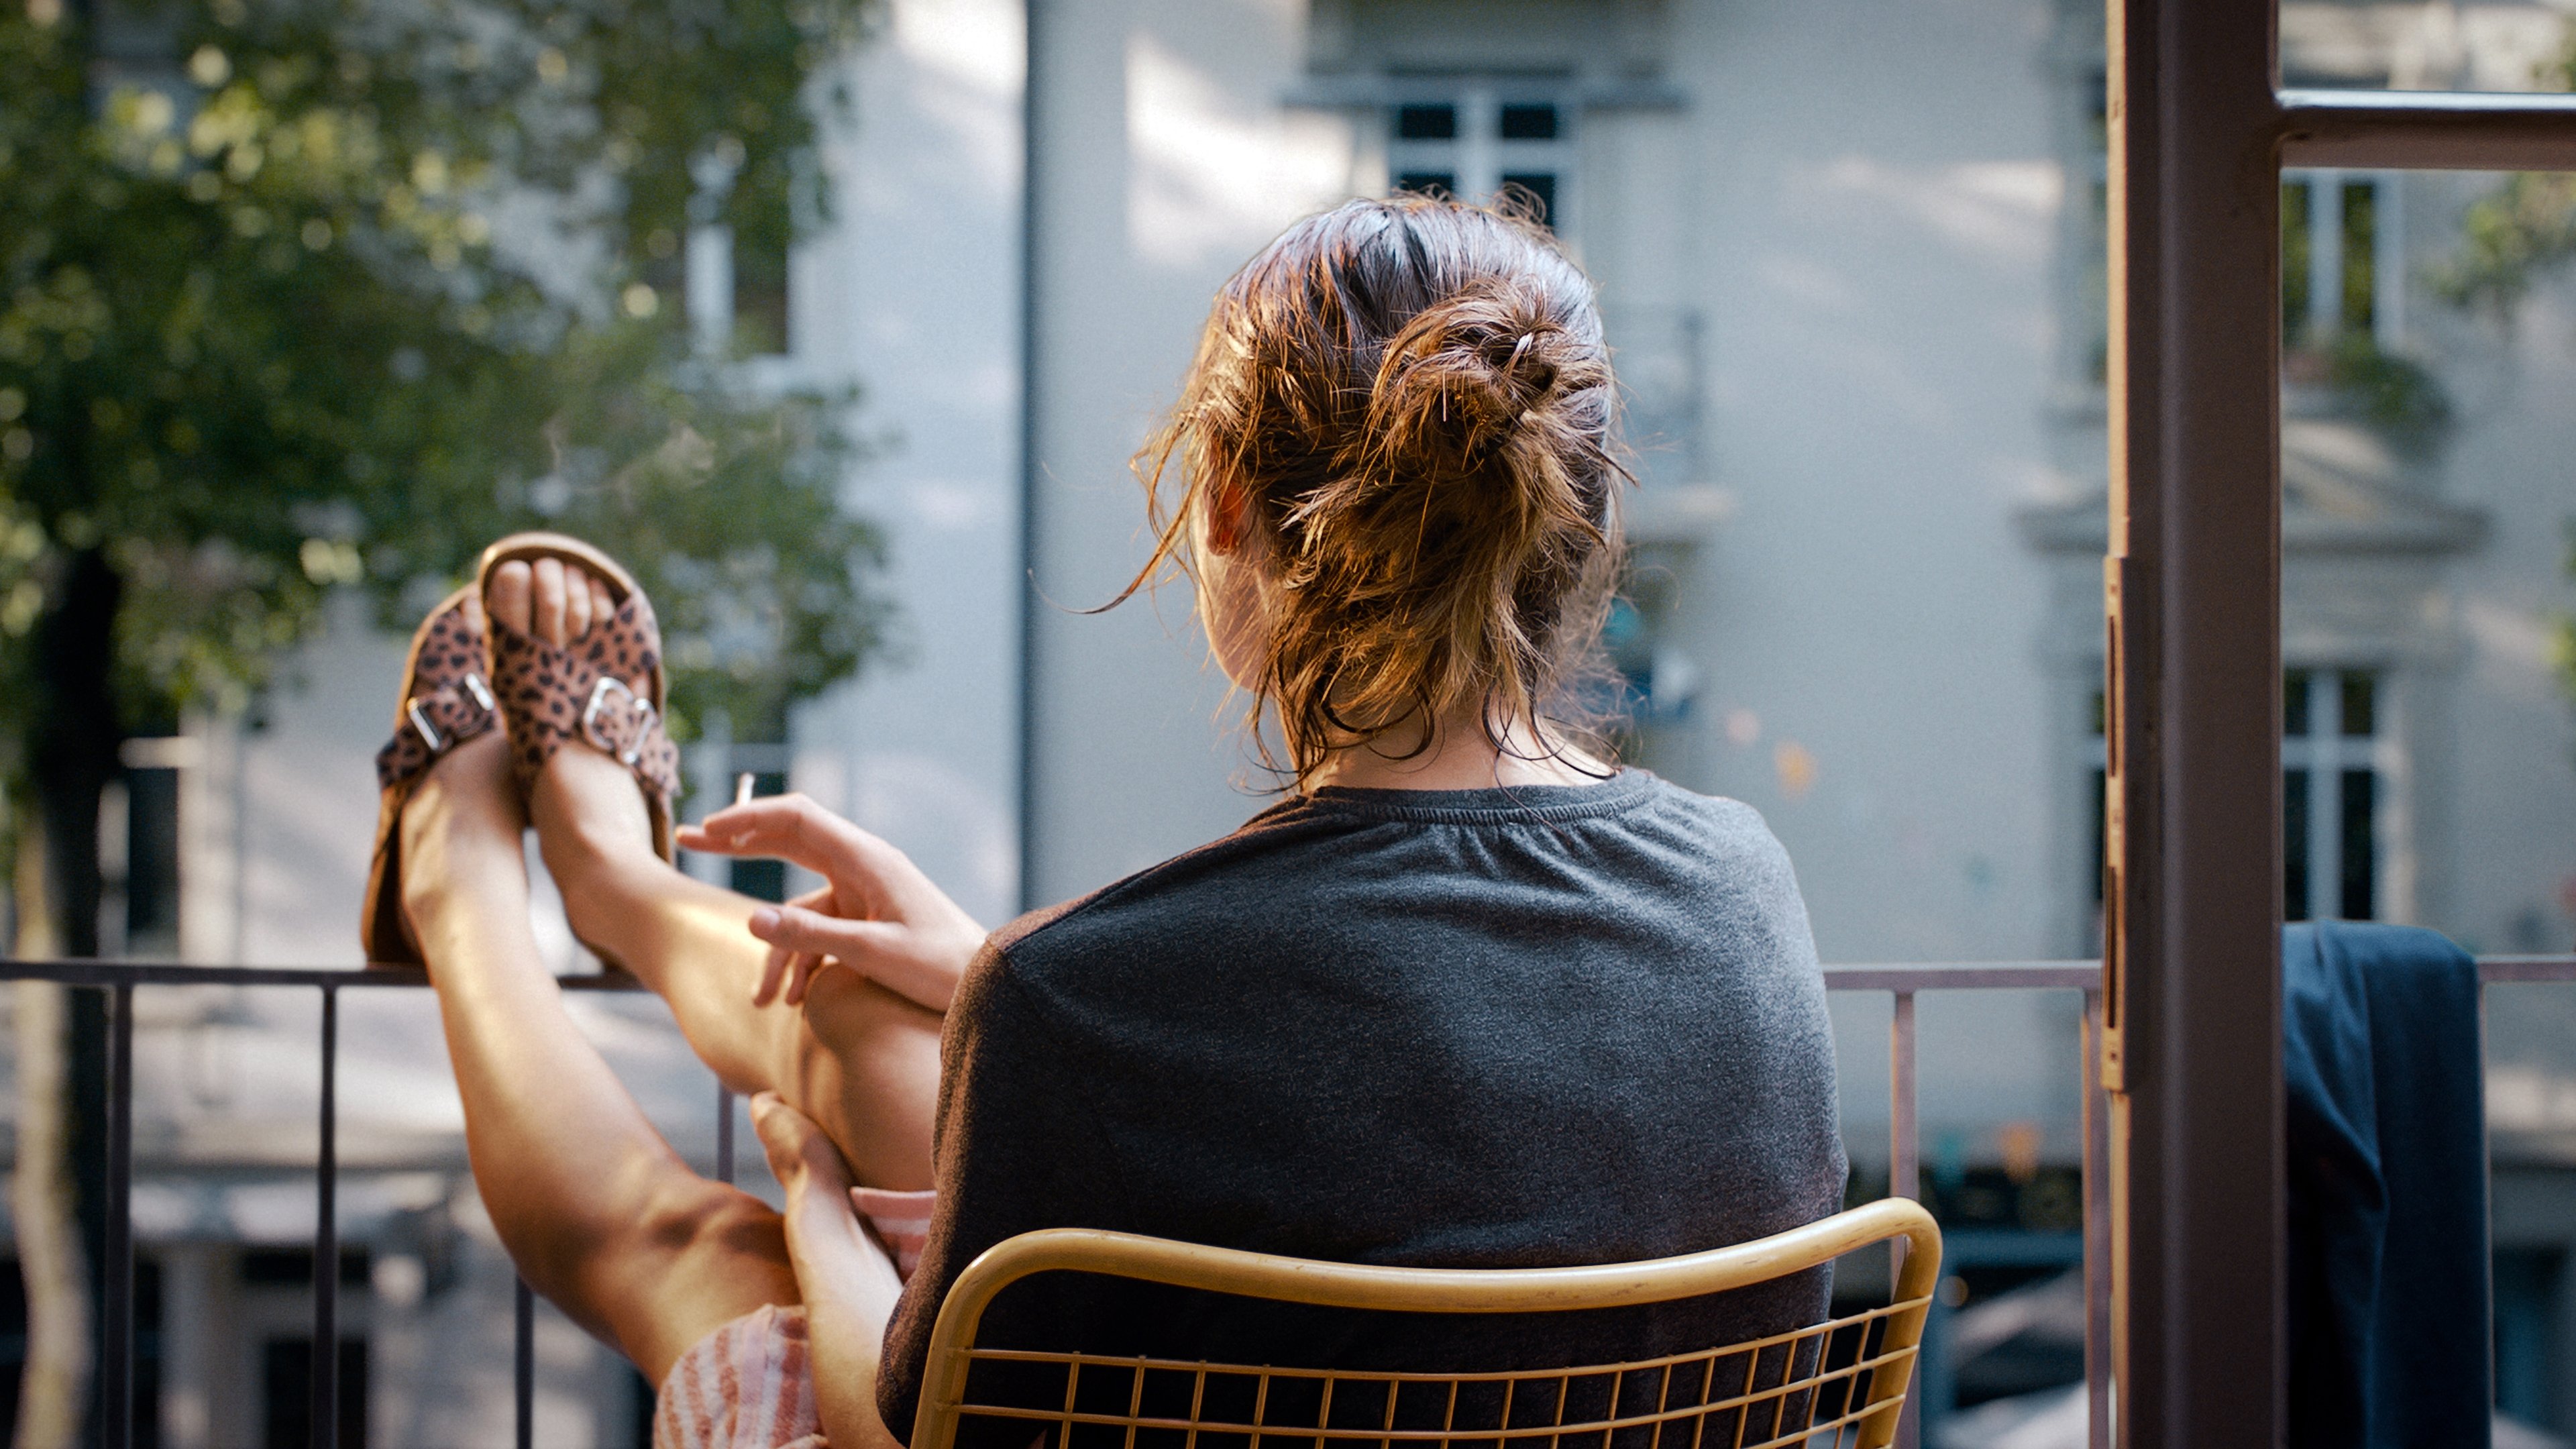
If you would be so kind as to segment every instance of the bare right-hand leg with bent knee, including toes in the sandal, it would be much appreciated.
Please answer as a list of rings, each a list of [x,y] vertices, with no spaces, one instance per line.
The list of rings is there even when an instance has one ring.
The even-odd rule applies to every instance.
[[[605,585],[546,565],[495,570],[492,614],[574,637],[564,601]],[[644,799],[590,748],[554,755],[528,812],[572,931],[670,1003],[680,1034],[732,1091],[775,1091],[848,1158],[860,1183],[930,1186],[940,1016],[853,972],[827,972],[801,1008],[755,1008],[768,946],[747,923],[762,902],[690,879],[652,853]]]

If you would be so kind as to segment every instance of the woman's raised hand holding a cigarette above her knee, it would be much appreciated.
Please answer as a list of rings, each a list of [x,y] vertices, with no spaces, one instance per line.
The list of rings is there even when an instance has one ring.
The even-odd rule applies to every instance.
[[[848,967],[930,1011],[948,1011],[987,931],[930,884],[909,856],[801,794],[773,794],[680,828],[680,846],[711,856],[775,856],[827,884],[752,913],[768,941],[752,1006],[804,1006],[814,975]]]

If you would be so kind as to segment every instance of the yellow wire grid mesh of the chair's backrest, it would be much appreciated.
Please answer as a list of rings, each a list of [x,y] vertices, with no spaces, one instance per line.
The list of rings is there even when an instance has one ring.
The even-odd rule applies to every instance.
[[[1927,1307],[1929,1299],[1911,1297],[1767,1338],[1625,1364],[1458,1374],[961,1348],[969,1372],[958,1377],[966,1392],[956,1413],[961,1421],[1033,1423],[1041,1449],[1538,1449],[1540,1441],[1551,1449],[1844,1449],[1860,1441],[1862,1421],[1904,1400],[1917,1348],[1891,1346],[1891,1330]],[[999,1395],[976,1392],[979,1379],[989,1379],[976,1366],[1010,1366],[1023,1387],[1030,1372],[1061,1369],[1064,1397],[1056,1408],[999,1403]],[[1211,1382],[1226,1405],[1211,1405]],[[1283,1397],[1298,1405],[1280,1408]],[[1466,1421],[1461,1397],[1468,1400]],[[1577,1397],[1584,1408],[1569,1421]],[[1476,1410],[1494,1400],[1492,1413]]]

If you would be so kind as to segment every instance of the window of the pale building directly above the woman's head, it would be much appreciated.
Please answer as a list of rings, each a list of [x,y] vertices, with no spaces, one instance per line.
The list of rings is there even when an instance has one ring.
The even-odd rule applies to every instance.
[[[1394,106],[1386,175],[1394,191],[1492,201],[1520,191],[1564,229],[1571,196],[1571,106],[1528,88],[1458,85]]]

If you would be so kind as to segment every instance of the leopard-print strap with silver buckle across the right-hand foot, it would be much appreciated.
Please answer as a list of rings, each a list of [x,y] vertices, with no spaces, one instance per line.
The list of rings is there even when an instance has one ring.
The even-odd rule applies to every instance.
[[[585,740],[626,766],[657,807],[677,799],[680,748],[652,701],[662,668],[657,642],[641,593],[569,650],[492,624],[492,683],[510,717],[510,766],[520,789],[536,784],[567,740]]]

